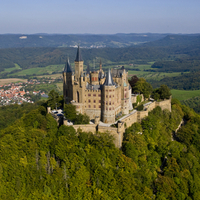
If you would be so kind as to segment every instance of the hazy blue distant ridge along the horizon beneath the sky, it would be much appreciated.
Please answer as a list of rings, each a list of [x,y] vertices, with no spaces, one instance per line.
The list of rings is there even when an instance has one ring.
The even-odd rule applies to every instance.
[[[0,35],[0,48],[18,47],[74,47],[84,48],[127,47],[159,40],[166,34],[3,34]]]

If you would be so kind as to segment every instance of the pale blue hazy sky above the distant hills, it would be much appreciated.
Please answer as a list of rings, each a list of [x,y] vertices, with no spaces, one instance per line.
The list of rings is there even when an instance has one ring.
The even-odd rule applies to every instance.
[[[0,34],[200,33],[200,0],[0,0]]]

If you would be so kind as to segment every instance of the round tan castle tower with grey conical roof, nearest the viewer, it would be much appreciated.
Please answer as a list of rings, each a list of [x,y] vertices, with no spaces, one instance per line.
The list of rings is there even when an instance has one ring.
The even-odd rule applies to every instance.
[[[110,69],[102,88],[101,118],[104,123],[115,122],[115,84]]]

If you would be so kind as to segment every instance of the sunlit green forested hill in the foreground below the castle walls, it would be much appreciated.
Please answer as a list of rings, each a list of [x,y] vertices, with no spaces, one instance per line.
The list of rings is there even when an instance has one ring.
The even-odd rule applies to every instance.
[[[1,127],[0,199],[199,199],[200,116],[189,107],[157,107],[126,130],[122,150],[109,134],[76,133],[43,106],[28,109]]]

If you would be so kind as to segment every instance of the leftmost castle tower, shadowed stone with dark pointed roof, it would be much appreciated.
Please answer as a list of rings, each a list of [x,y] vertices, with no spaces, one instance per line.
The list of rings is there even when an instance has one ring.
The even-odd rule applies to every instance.
[[[70,103],[70,101],[73,100],[72,84],[73,84],[72,69],[68,58],[63,71],[63,96],[65,103]]]

